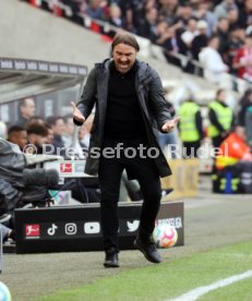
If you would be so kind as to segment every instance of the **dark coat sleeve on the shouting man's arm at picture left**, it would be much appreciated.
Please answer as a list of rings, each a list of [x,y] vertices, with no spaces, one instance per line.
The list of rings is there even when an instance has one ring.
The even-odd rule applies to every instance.
[[[81,100],[77,103],[77,108],[83,113],[85,119],[87,119],[94,108],[97,95],[96,86],[96,72],[95,69],[93,69],[89,72],[86,83],[83,87]],[[75,124],[77,124],[76,121]]]

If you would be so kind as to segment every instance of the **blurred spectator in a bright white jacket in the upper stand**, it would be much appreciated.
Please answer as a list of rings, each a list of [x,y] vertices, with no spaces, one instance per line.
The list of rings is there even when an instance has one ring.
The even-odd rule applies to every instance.
[[[213,36],[208,40],[208,46],[199,53],[200,62],[204,68],[205,80],[216,84],[219,84],[224,79],[224,73],[228,72],[228,65],[220,57],[218,47],[219,38]]]

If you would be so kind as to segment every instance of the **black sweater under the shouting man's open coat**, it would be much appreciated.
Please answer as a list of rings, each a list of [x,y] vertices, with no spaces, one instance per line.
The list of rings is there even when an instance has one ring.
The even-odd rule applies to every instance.
[[[112,140],[146,139],[144,120],[135,91],[136,63],[122,74],[115,63],[108,83],[105,137]]]

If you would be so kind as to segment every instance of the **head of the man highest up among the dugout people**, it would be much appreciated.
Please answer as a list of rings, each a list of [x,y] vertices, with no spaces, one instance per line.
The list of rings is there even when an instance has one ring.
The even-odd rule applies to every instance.
[[[20,127],[25,128],[27,121],[35,115],[35,101],[32,97],[19,101],[19,122]]]

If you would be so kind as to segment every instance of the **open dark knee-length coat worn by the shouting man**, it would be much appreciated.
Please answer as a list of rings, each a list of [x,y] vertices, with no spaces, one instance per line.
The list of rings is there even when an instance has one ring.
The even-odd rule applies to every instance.
[[[87,156],[85,166],[85,172],[92,176],[97,176],[98,173],[99,157],[96,155],[92,156],[91,154],[92,149],[99,149],[103,142],[110,62],[111,60],[107,59],[103,63],[95,64],[95,68],[87,76],[81,100],[77,104],[77,108],[85,119],[92,113],[95,106],[95,117],[91,130],[89,155]],[[161,81],[157,72],[146,62],[136,61],[136,63],[135,89],[144,117],[148,143],[151,147],[159,149],[159,156],[155,158],[155,162],[160,177],[167,177],[171,174],[171,171],[158,144],[157,135],[158,131],[161,131],[163,124],[170,120]],[[79,122],[74,122],[80,125]]]

